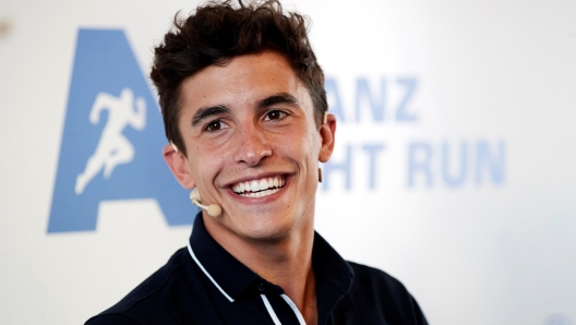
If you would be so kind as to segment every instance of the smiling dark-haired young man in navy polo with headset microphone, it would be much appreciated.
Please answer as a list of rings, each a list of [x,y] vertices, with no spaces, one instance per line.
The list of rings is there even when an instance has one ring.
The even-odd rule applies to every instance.
[[[88,324],[427,324],[400,282],[314,232],[336,120],[302,16],[211,2],[176,22],[151,76],[164,156],[203,210],[187,249]]]

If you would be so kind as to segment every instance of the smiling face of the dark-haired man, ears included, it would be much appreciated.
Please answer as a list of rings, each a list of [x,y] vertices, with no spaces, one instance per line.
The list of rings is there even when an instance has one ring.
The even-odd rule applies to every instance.
[[[181,99],[188,157],[175,154],[177,178],[223,207],[204,218],[208,229],[274,239],[313,227],[319,160],[332,154],[335,121],[319,131],[309,92],[283,56],[208,67],[184,81]]]

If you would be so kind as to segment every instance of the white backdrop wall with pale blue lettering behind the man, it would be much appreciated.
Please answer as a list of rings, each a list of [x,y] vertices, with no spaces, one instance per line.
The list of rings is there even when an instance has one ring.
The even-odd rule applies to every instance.
[[[79,29],[123,31],[147,75],[196,4],[0,2],[1,324],[83,323],[185,244],[154,198],[103,200],[95,230],[48,225]],[[316,229],[431,324],[576,324],[576,2],[285,7],[312,19],[339,118]]]

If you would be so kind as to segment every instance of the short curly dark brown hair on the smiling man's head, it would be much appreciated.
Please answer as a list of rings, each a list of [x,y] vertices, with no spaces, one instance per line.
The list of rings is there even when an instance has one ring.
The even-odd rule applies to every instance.
[[[226,65],[232,58],[265,50],[288,60],[308,88],[320,128],[328,109],[324,73],[308,40],[305,17],[283,11],[277,0],[238,4],[211,1],[188,19],[175,16],[173,29],[155,48],[151,79],[158,89],[166,136],[185,156],[178,129],[180,93],[185,79],[208,65]]]

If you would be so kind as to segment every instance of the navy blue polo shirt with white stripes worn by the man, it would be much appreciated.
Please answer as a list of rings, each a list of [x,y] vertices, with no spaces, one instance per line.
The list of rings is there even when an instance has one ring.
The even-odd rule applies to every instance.
[[[428,324],[395,278],[344,261],[314,234],[319,324]],[[86,324],[304,324],[283,288],[244,266],[194,221],[188,248]]]

